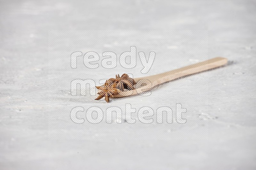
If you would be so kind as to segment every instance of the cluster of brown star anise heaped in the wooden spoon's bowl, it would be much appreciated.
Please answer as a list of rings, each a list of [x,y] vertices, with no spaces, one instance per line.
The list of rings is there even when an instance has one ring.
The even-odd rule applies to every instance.
[[[95,100],[100,100],[105,96],[106,102],[109,102],[109,96],[117,95],[119,92],[124,91],[124,89],[132,90],[133,85],[136,82],[130,78],[127,74],[123,74],[121,77],[116,75],[116,79],[108,79],[103,86],[96,86],[99,89],[99,95]]]

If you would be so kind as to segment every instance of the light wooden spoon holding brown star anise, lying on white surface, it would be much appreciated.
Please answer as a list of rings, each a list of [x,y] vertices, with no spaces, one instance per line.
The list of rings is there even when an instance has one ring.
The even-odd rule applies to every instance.
[[[153,87],[159,84],[162,84],[164,82],[172,81],[186,75],[200,73],[206,70],[210,70],[212,68],[217,68],[227,64],[227,62],[228,62],[228,59],[226,58],[216,57],[210,60],[192,64],[192,65],[175,69],[172,71],[168,71],[165,73],[146,76],[146,77],[140,77],[140,78],[134,78],[134,80],[137,82],[136,88],[134,90],[120,92],[118,95],[109,96],[109,97],[116,98],[116,97],[126,97],[126,96],[140,94],[140,93],[149,91]]]

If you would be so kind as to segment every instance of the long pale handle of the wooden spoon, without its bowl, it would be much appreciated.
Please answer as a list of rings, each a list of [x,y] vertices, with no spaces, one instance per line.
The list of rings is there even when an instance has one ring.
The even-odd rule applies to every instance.
[[[227,64],[227,62],[228,62],[228,59],[226,58],[216,57],[210,60],[202,61],[196,64],[192,64],[192,65],[175,69],[172,71],[168,71],[165,73],[136,78],[135,81],[138,81],[141,79],[147,79],[152,83],[152,87],[154,87],[158,84],[162,84],[167,81],[172,81],[174,79],[177,79],[186,75],[200,73],[206,70],[223,66]]]

